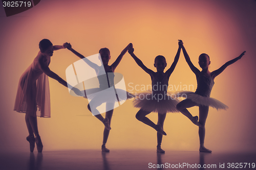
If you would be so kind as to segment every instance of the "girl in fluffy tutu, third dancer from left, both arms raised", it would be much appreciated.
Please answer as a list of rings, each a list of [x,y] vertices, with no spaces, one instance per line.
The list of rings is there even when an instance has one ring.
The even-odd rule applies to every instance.
[[[172,66],[166,71],[166,60],[163,56],[157,56],[155,58],[154,66],[157,72],[147,68],[142,61],[135,56],[134,48],[130,46],[129,53],[136,61],[136,63],[150,75],[152,80],[152,91],[142,92],[136,95],[136,99],[133,101],[135,107],[140,108],[136,114],[136,118],[142,123],[154,128],[157,131],[157,152],[164,153],[165,151],[161,149],[162,137],[166,135],[163,131],[164,119],[167,112],[178,112],[176,105],[179,103],[178,99],[175,98],[175,94],[167,92],[169,77],[174,71],[177,62],[180,57],[181,46],[179,43],[178,52],[175,56]],[[172,95],[173,94],[173,95]],[[149,118],[146,117],[147,114],[151,112],[158,113],[157,125],[153,123]]]

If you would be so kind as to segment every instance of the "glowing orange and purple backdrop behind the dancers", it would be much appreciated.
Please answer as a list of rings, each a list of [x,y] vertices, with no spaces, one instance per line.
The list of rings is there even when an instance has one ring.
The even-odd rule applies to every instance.
[[[198,56],[210,56],[210,71],[245,56],[228,66],[215,79],[211,97],[229,106],[227,111],[210,108],[205,146],[213,151],[255,150],[255,16],[256,2],[246,1],[41,1],[34,8],[6,17],[0,7],[0,148],[27,147],[25,114],[13,111],[19,77],[36,57],[41,39],[55,45],[70,42],[84,56],[111,51],[112,64],[123,48],[133,43],[135,54],[150,69],[157,55],[169,67],[178,50],[178,39],[196,67]],[[55,51],[50,69],[66,80],[66,68],[79,60],[67,49]],[[146,74],[126,53],[116,72],[129,83],[150,85]],[[39,118],[44,150],[100,149],[103,124],[88,111],[88,101],[71,96],[68,89],[50,79],[51,118]],[[183,53],[169,85],[193,85],[196,77]],[[131,84],[130,84],[131,86]],[[143,89],[142,89],[143,90]],[[131,92],[139,92],[133,90]],[[109,149],[155,149],[156,131],[135,118],[138,109],[128,100],[114,110]],[[198,115],[198,108],[189,109]],[[157,122],[157,114],[148,115]],[[164,125],[167,136],[162,148],[198,151],[198,128],[181,113],[169,113]],[[29,150],[29,149],[28,149]]]

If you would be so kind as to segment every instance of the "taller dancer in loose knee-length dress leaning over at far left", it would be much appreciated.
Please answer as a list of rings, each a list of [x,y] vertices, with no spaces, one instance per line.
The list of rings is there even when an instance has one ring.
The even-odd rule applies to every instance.
[[[62,45],[53,45],[50,40],[39,42],[40,51],[33,63],[26,69],[19,79],[14,110],[26,113],[25,120],[29,131],[27,140],[30,143],[30,152],[34,151],[35,142],[38,152],[42,152],[42,142],[37,128],[37,117],[50,117],[50,91],[48,76],[68,87],[67,82],[61,79],[48,67],[53,51],[64,48]],[[77,95],[82,93],[72,88]],[[40,114],[36,114],[36,110]]]

